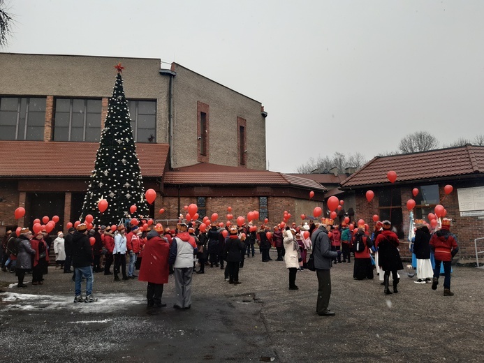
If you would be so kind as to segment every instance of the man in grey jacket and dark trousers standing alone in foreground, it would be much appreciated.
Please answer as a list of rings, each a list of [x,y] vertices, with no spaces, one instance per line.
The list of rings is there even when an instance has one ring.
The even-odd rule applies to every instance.
[[[328,309],[331,296],[331,275],[332,258],[337,258],[338,253],[331,251],[328,230],[324,223],[316,224],[318,227],[311,235],[313,244],[314,267],[318,276],[318,301],[316,303],[316,313],[319,316],[334,316],[335,313]]]

